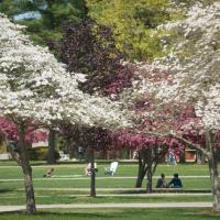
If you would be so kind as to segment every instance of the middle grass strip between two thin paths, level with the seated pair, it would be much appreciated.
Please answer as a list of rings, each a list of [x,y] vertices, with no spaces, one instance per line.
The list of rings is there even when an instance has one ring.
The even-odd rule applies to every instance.
[[[210,179],[207,178],[183,178],[182,179],[185,189],[210,189]],[[135,178],[97,178],[97,188],[134,188]],[[143,188],[145,188],[146,180],[143,182]],[[153,179],[153,186],[156,185],[156,179]],[[35,188],[89,188],[90,178],[38,178],[34,179]],[[23,188],[23,179],[1,182],[0,189],[21,189]]]

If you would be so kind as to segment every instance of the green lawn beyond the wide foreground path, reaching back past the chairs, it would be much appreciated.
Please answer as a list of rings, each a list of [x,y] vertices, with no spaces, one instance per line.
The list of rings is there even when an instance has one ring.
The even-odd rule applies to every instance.
[[[211,196],[183,196],[175,197],[128,197],[129,188],[134,188],[138,164],[120,164],[116,177],[105,176],[103,170],[108,164],[98,165],[97,195],[121,194],[121,197],[77,197],[76,195],[89,195],[90,178],[84,175],[86,164],[59,164],[54,165],[55,177],[43,178],[43,174],[51,166],[34,165],[33,183],[36,196],[36,204],[88,204],[88,202],[160,202],[160,201],[211,201]],[[172,176],[179,173],[180,176],[208,176],[207,165],[158,165],[155,175],[165,173]],[[118,178],[123,177],[123,178]],[[131,178],[132,177],[132,178]],[[66,179],[67,178],[67,179]],[[184,189],[210,189],[209,177],[184,178]],[[168,179],[167,179],[168,182]],[[153,179],[153,186],[156,178]],[[144,179],[142,190],[145,189]],[[114,189],[113,191],[110,188]],[[120,190],[128,188],[128,191]],[[80,190],[79,190],[80,189]],[[109,190],[108,190],[109,189]],[[0,205],[24,205],[24,187],[21,167],[13,162],[0,163]]]

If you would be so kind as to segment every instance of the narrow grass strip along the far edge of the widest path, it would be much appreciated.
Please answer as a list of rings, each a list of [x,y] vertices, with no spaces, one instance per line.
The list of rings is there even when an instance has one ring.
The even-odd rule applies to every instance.
[[[88,194],[87,194],[88,195]],[[211,195],[207,196],[185,196],[177,195],[172,197],[165,196],[99,196],[91,198],[89,196],[77,196],[67,191],[35,191],[36,204],[135,204],[135,202],[169,202],[169,201],[211,201]],[[11,191],[1,195],[0,205],[25,205],[25,195],[21,191]]]

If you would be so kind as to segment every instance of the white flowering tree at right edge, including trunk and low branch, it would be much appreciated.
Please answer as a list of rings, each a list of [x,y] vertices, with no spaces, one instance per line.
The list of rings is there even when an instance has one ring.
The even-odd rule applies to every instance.
[[[175,130],[169,130],[169,135],[207,156],[213,211],[220,211],[217,158],[220,131],[220,2],[213,1],[208,6],[196,3],[186,11],[185,19],[158,28],[160,33],[166,33],[162,43],[167,55],[141,67],[151,76],[134,84],[138,89],[134,89],[133,96],[153,96],[158,107],[166,103],[169,108],[176,108],[176,103],[194,107],[196,116],[187,119],[188,124],[182,129],[196,128],[195,131],[205,141],[195,143]],[[154,72],[155,68],[157,72]],[[161,75],[158,69],[162,69]]]

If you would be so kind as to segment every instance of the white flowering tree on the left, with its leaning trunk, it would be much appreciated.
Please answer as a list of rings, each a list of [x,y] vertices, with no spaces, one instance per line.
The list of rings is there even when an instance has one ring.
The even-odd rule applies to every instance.
[[[0,14],[0,116],[18,128],[19,147],[14,156],[24,174],[26,212],[34,213],[32,168],[25,145],[30,123],[68,120],[106,128],[123,128],[129,123],[119,103],[78,90],[77,81],[85,77],[68,74],[46,48],[34,46],[21,33],[22,29]]]

